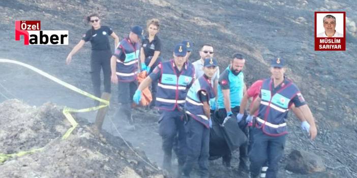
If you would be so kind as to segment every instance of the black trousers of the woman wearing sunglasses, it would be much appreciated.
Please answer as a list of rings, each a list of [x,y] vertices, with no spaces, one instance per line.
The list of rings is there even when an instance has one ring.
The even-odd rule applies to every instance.
[[[101,97],[100,91],[100,71],[103,69],[104,76],[104,91],[110,93],[110,50],[92,50],[91,54],[91,78],[93,84],[94,95]]]

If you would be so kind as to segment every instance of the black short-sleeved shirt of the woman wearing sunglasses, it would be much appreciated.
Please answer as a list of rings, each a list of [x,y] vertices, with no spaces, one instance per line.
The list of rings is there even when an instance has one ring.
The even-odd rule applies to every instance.
[[[101,26],[99,29],[91,28],[82,36],[82,40],[85,42],[90,41],[92,44],[92,50],[110,50],[109,35],[113,31],[108,26]]]

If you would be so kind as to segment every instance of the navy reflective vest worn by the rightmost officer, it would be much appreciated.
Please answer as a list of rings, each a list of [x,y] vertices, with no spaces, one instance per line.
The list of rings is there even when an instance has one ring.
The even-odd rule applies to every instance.
[[[267,135],[280,136],[287,134],[285,118],[289,111],[289,104],[300,90],[290,80],[284,79],[284,86],[272,95],[272,83],[273,79],[265,79],[262,83],[256,127],[261,128]]]

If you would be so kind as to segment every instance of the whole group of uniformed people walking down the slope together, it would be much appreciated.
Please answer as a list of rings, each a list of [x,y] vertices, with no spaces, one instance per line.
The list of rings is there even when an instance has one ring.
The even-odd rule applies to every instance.
[[[192,43],[188,40],[175,45],[173,59],[160,57],[161,41],[157,35],[159,20],[147,21],[147,32],[133,26],[128,37],[120,43],[107,26],[100,25],[97,14],[88,16],[92,28],[67,57],[69,63],[85,42],[92,43],[91,76],[95,95],[100,97],[100,69],[104,73],[104,90],[110,93],[110,81],[118,84],[119,110],[130,124],[132,102],[139,103],[142,90],[151,85],[153,101],[150,108],[160,110],[159,134],[164,152],[163,168],[171,172],[172,150],[177,140],[178,177],[190,177],[198,162],[199,175],[209,177],[210,128],[212,117],[219,124],[236,120],[236,127],[249,137],[241,145],[239,168],[250,171],[251,177],[276,177],[278,162],[283,155],[287,134],[287,113],[292,109],[302,121],[302,128],[316,134],[311,111],[299,88],[284,77],[285,60],[276,58],[271,63],[272,76],[255,82],[248,90],[243,68],[246,59],[235,53],[220,74],[214,47],[202,45],[200,59],[190,62]],[[110,53],[108,36],[115,42]],[[140,45],[141,42],[141,45]],[[146,70],[147,77],[138,85],[137,74]],[[245,112],[253,97],[250,114]],[[117,116],[119,118],[119,116]],[[116,118],[116,119],[118,119]],[[248,160],[250,166],[248,167]],[[223,154],[222,163],[231,167],[231,152]]]

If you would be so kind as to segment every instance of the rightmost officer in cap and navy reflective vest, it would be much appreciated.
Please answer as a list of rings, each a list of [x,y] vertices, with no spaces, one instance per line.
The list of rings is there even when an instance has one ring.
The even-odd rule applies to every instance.
[[[260,94],[250,110],[250,113],[259,110],[258,117],[254,117],[255,121],[253,121],[255,123],[252,131],[254,143],[249,154],[252,178],[259,177],[260,168],[266,160],[269,165],[266,177],[277,176],[278,163],[283,156],[287,134],[285,119],[292,104],[300,110],[310,124],[311,139],[314,139],[317,134],[314,118],[299,88],[284,78],[284,65],[285,61],[282,58],[272,61],[272,77],[263,80]],[[249,115],[246,122],[250,122],[252,118]]]

